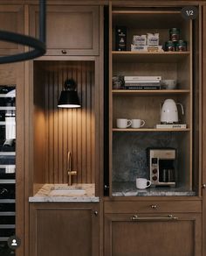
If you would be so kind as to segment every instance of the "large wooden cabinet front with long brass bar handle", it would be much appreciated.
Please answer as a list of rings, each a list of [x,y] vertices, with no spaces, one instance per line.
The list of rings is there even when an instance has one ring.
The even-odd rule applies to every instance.
[[[200,256],[201,215],[175,217],[106,214],[105,256]]]

